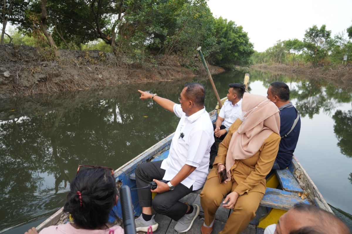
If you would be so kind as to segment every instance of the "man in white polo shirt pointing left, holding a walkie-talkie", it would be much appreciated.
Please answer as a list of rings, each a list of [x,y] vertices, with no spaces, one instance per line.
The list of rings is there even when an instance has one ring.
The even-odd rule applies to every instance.
[[[177,221],[176,232],[187,232],[199,214],[198,205],[186,205],[179,200],[203,187],[208,175],[209,152],[214,143],[212,121],[205,110],[205,88],[200,83],[188,83],[178,100],[181,104],[138,90],[140,99],[152,99],[181,118],[172,138],[168,158],[140,164],[136,169],[137,188],[150,181],[157,183],[155,190],[138,189],[142,214],[136,219],[136,231],[147,232],[158,223],[152,209]],[[169,181],[168,183],[159,180]],[[158,193],[152,200],[151,192]]]

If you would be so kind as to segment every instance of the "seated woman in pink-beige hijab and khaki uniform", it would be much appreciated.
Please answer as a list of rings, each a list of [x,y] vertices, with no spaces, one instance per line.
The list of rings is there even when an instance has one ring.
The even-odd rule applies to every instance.
[[[264,96],[245,93],[240,117],[220,143],[213,169],[200,194],[205,218],[202,234],[212,232],[220,205],[233,209],[220,234],[240,233],[254,218],[265,193],[265,176],[278,152],[279,128],[280,116],[275,104]],[[218,173],[222,170],[228,179],[220,183]]]

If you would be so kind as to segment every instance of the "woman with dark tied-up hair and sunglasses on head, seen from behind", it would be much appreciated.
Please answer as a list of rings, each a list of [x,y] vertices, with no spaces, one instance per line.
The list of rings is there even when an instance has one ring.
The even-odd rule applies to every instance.
[[[64,205],[73,222],[44,228],[39,234],[123,234],[124,230],[109,225],[109,214],[118,200],[114,171],[111,168],[79,166]],[[25,234],[36,234],[35,228]]]

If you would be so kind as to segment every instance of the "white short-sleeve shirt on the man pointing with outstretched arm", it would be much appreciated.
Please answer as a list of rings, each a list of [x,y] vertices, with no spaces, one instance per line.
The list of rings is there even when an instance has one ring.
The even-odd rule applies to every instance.
[[[209,168],[210,147],[214,143],[212,121],[205,108],[187,116],[180,104],[174,105],[174,112],[181,118],[172,138],[168,158],[161,168],[166,170],[164,180],[171,180],[187,164],[196,169],[181,183],[193,190],[203,187]],[[183,136],[183,137],[182,137]]]

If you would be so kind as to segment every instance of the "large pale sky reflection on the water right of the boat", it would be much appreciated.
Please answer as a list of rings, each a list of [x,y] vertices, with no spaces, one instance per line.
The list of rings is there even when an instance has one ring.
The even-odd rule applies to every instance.
[[[347,111],[351,106],[349,103],[339,103],[337,108]],[[313,119],[308,116],[302,118],[295,155],[324,199],[351,214],[352,185],[347,178],[352,172],[352,159],[342,155],[337,146],[335,122],[331,116],[319,114],[314,115]]]

